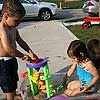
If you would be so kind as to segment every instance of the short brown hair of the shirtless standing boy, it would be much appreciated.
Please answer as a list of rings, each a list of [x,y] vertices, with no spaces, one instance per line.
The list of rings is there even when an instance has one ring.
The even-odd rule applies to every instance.
[[[4,0],[2,6],[2,15],[7,13],[8,16],[22,16],[25,15],[25,9],[23,5],[19,2],[19,0]]]

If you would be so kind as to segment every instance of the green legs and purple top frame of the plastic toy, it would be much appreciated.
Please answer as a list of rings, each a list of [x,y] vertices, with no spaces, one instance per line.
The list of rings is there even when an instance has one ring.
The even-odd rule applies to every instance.
[[[32,95],[35,96],[38,93],[38,87],[37,84],[32,81],[32,77],[34,75],[35,70],[39,71],[40,68],[43,68],[44,76],[40,76],[41,80],[45,80],[46,83],[46,91],[47,91],[47,98],[52,97],[53,94],[53,89],[52,89],[52,84],[51,84],[51,75],[49,72],[49,67],[47,64],[47,60],[42,60],[39,63],[27,63],[27,70],[28,70],[28,78],[29,78],[29,83],[31,86],[32,90]]]

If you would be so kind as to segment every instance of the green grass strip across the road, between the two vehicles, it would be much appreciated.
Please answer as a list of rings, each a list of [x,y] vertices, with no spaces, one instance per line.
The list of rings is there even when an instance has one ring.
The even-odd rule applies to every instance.
[[[80,9],[83,6],[83,1],[67,1],[65,2],[64,0],[42,0],[42,1],[47,1],[47,2],[54,2],[60,6],[60,1],[62,2],[62,8],[73,8],[73,9]]]

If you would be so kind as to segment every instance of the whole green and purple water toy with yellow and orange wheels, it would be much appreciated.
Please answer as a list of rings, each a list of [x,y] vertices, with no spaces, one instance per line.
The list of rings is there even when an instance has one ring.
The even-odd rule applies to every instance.
[[[31,86],[32,95],[35,96],[39,92],[38,88],[43,89],[44,87],[46,87],[47,98],[52,97],[54,94],[53,94],[53,88],[52,88],[52,83],[50,79],[51,75],[49,72],[47,60],[46,59],[40,60],[40,62],[34,60],[32,63],[27,63],[26,66],[28,70],[28,78],[29,78],[29,83]],[[43,76],[40,76],[41,81],[39,82],[38,81],[39,75],[38,73],[36,73],[36,71],[39,72],[40,68],[43,68]],[[45,85],[44,85],[44,82],[45,82]]]

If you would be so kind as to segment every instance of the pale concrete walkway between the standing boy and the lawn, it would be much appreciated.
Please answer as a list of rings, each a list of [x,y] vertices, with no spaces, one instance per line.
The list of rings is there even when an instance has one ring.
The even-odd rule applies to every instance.
[[[59,73],[60,70],[71,64],[66,50],[69,43],[77,38],[61,22],[23,22],[18,29],[24,40],[27,41],[40,58],[48,58],[51,74]],[[19,49],[23,51],[21,48]],[[20,74],[26,71],[26,62],[18,61],[20,76]],[[19,81],[19,86],[21,81]]]

